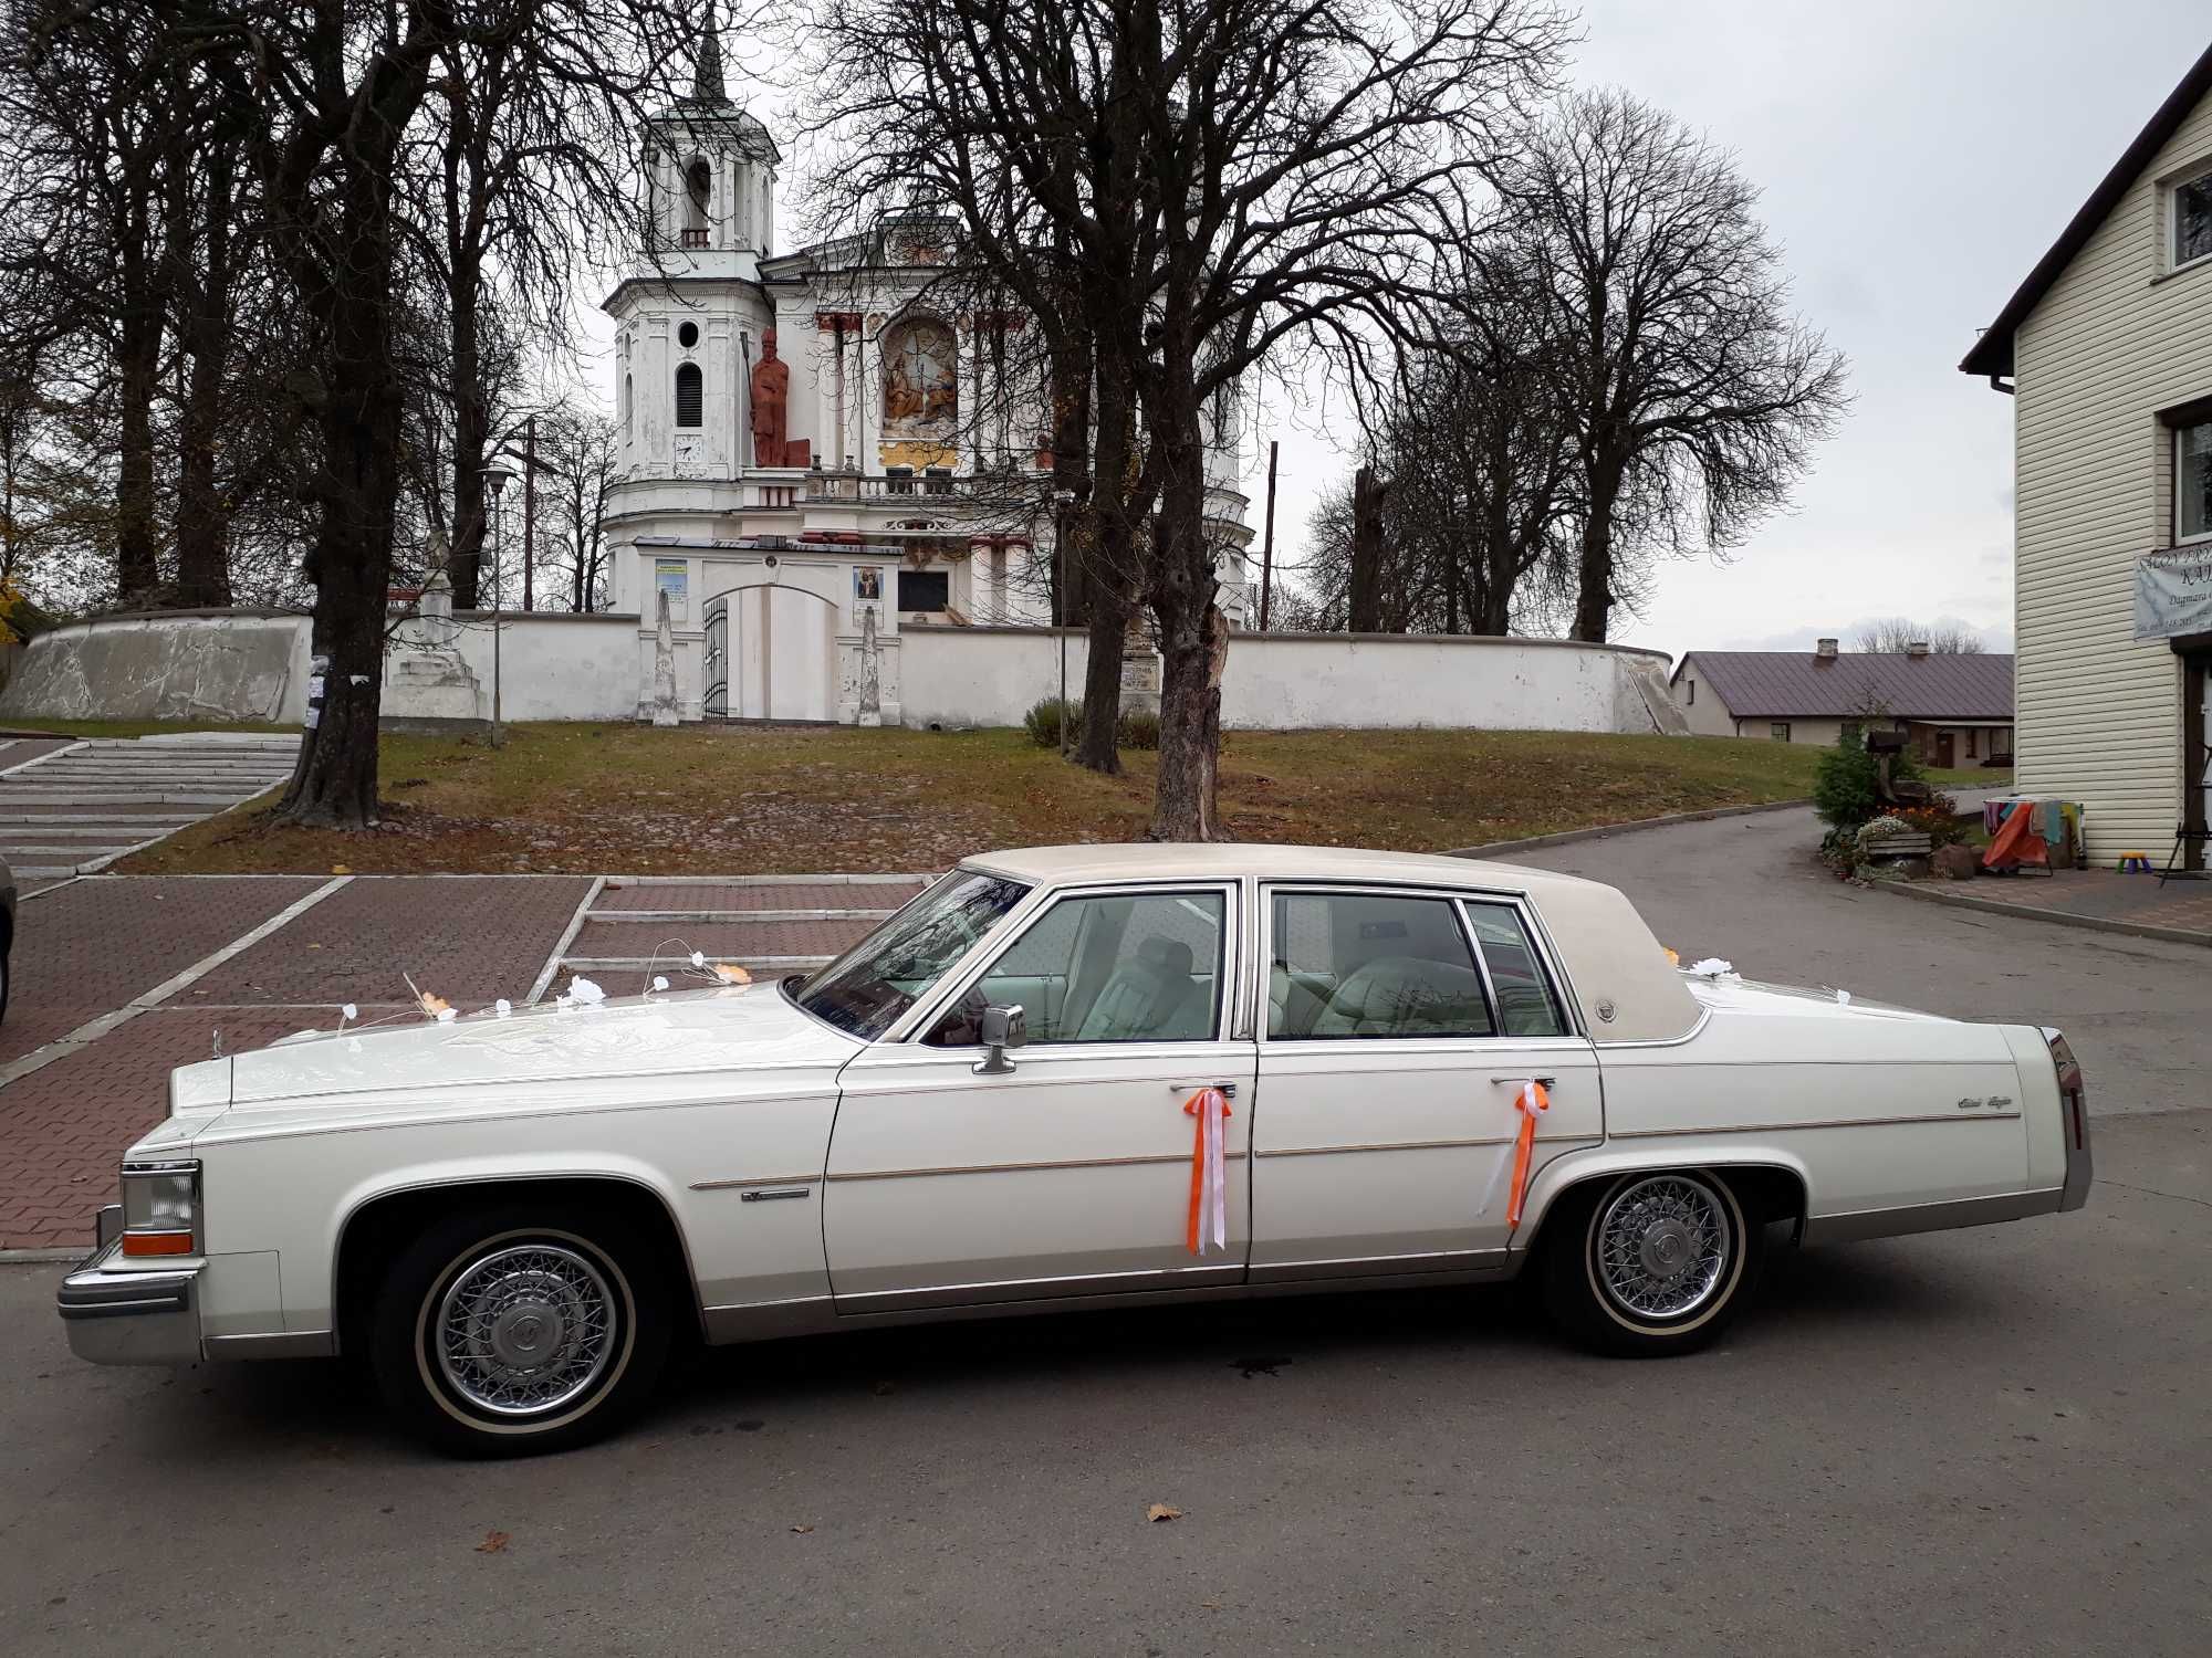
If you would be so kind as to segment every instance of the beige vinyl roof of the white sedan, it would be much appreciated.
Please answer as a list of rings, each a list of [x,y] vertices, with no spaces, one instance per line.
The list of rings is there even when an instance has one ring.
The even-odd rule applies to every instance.
[[[978,853],[964,864],[1042,886],[1252,875],[1520,893],[1542,915],[1573,979],[1584,1030],[1597,1041],[1668,1041],[1688,1035],[1701,1012],[1690,986],[1619,889],[1551,869],[1420,851],[1183,842],[1018,847]]]

